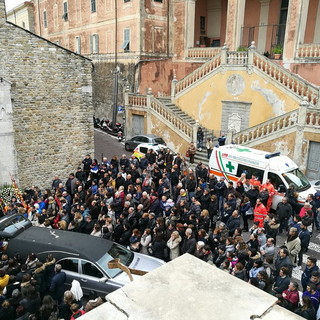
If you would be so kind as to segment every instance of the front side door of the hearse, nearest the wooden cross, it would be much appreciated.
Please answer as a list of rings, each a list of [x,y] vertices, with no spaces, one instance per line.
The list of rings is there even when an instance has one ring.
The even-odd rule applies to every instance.
[[[98,295],[105,295],[118,289],[108,282],[107,276],[91,261],[81,260],[82,282],[81,287],[85,292],[95,291]],[[101,281],[105,278],[105,281]]]

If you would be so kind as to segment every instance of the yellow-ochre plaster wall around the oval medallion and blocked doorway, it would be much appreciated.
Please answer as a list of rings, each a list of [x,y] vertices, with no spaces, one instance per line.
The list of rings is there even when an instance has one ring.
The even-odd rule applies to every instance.
[[[242,76],[245,88],[242,94],[232,96],[227,90],[228,78]],[[256,74],[246,71],[218,73],[176,99],[176,104],[200,124],[211,130],[220,130],[222,101],[252,103],[249,126],[257,125],[275,116],[298,108],[298,102]]]

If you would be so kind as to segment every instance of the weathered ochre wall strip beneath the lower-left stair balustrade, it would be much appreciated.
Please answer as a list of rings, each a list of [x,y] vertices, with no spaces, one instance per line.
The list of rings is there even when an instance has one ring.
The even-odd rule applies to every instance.
[[[161,121],[161,118],[155,117],[149,114],[150,133],[159,135],[175,152],[179,152],[182,156],[185,156],[188,148],[188,142],[183,140],[174,130],[166,126]]]

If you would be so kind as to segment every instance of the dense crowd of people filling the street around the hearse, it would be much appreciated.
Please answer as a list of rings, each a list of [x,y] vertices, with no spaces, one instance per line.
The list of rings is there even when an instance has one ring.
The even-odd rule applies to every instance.
[[[308,257],[300,288],[292,272],[319,230],[320,194],[310,194],[301,207],[291,185],[272,211],[275,192],[272,181],[262,184],[247,172],[226,183],[169,149],[101,163],[88,154],[65,182],[56,176],[48,189],[32,186],[12,197],[2,214],[24,214],[33,225],[110,239],[165,261],[189,253],[278,297],[282,307],[319,319],[317,260]],[[287,239],[279,243],[283,232]],[[0,319],[69,320],[97,304],[95,297],[87,308],[76,289],[57,297],[64,280],[53,256],[38,261],[30,253],[21,261],[8,257],[4,244],[2,250]]]

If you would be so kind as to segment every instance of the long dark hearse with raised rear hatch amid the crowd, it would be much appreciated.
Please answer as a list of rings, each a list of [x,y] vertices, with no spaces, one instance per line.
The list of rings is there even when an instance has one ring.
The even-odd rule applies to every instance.
[[[45,261],[47,255],[52,254],[67,275],[66,289],[73,280],[78,280],[85,294],[95,291],[105,296],[130,281],[120,269],[108,268],[110,260],[119,258],[129,268],[143,271],[165,263],[103,238],[32,226],[22,215],[0,219],[0,236],[4,235],[8,235],[9,256],[20,254],[26,259],[30,253],[35,253],[40,261]]]

